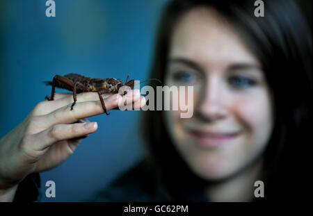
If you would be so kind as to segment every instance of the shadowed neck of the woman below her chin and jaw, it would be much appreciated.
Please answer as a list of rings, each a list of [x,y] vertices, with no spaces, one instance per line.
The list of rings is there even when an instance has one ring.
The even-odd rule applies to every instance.
[[[209,201],[252,201],[255,181],[262,180],[263,159],[257,160],[240,174],[205,188]]]

